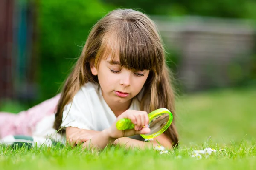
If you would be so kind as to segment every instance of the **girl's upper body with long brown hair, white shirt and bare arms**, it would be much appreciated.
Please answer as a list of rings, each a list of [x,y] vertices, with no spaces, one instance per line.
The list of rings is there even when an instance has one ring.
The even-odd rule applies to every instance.
[[[53,127],[70,144],[84,147],[147,147],[157,146],[156,141],[175,147],[174,121],[153,142],[140,137],[150,132],[147,114],[157,108],[167,108],[175,116],[157,28],[139,11],[113,10],[93,26],[59,96]],[[134,130],[117,130],[122,118],[131,119]]]

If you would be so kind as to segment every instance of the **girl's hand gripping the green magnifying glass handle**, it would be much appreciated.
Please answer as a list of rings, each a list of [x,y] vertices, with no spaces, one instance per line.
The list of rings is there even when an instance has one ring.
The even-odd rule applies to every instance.
[[[131,130],[117,130],[116,122],[119,119],[128,118],[131,119],[131,122],[135,125],[134,129]],[[137,134],[149,133],[150,129],[148,128],[149,118],[148,113],[145,111],[135,111],[135,110],[126,110],[120,116],[117,117],[116,121],[107,129],[108,134],[113,139],[118,139],[121,137],[128,137]],[[144,127],[143,127],[144,126]]]

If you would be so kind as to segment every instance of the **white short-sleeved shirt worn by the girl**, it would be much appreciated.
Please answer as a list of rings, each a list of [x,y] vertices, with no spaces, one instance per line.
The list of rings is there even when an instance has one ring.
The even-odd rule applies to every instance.
[[[129,109],[140,110],[140,102],[136,97]],[[99,85],[88,82],[73,97],[73,102],[64,107],[61,127],[102,131],[115,121],[116,116],[105,102]]]

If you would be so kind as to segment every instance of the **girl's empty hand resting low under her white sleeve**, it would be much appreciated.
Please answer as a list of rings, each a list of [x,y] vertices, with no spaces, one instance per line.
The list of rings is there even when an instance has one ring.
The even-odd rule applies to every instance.
[[[66,128],[66,139],[71,146],[76,146],[82,142],[90,140],[94,135],[100,133],[94,130],[79,129],[77,127],[67,127]]]

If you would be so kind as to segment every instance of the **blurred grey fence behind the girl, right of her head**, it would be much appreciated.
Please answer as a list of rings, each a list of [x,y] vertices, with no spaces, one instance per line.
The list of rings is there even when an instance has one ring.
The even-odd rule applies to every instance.
[[[250,59],[255,53],[252,21],[157,16],[152,19],[166,46],[180,56],[177,79],[186,91],[231,86],[249,74]]]

